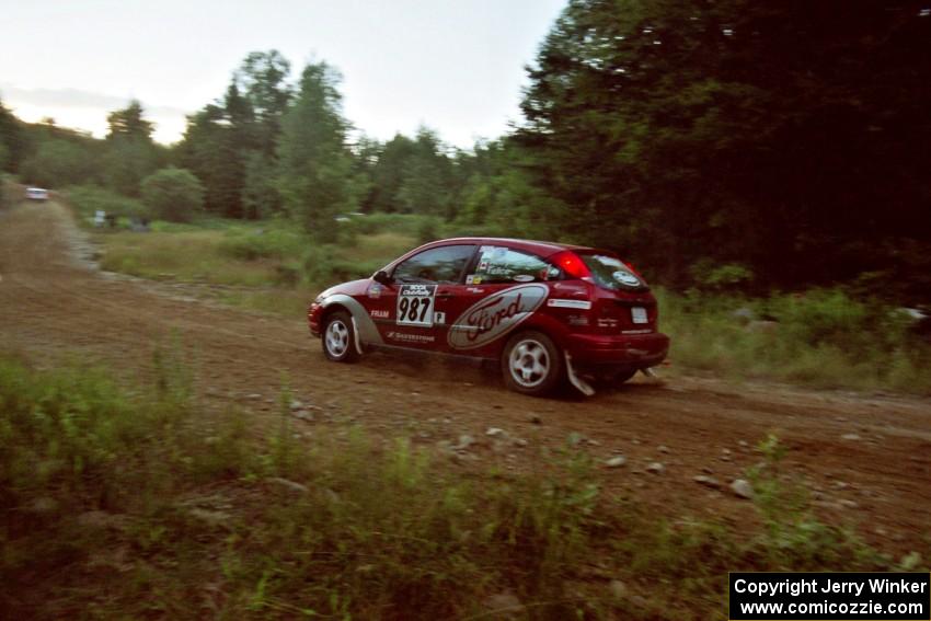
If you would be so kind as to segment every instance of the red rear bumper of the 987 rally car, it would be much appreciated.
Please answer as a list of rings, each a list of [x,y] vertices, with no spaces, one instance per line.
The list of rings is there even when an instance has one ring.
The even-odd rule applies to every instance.
[[[579,367],[623,367],[644,369],[666,359],[669,337],[652,334],[619,334],[612,336],[572,334],[566,350]]]

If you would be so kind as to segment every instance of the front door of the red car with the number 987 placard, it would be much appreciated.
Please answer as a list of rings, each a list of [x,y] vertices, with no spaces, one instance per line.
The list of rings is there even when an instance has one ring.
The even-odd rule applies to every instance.
[[[444,350],[448,313],[474,244],[434,246],[404,260],[391,273],[393,283],[379,292],[372,317],[387,345]]]

